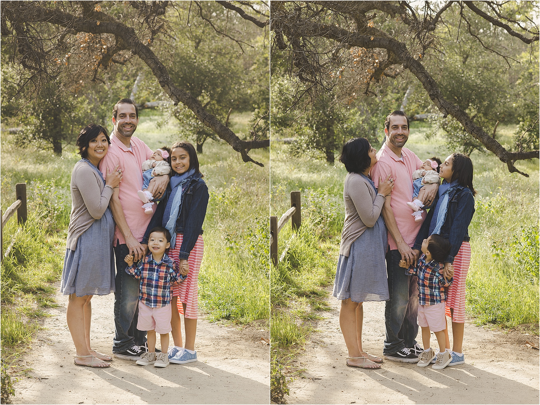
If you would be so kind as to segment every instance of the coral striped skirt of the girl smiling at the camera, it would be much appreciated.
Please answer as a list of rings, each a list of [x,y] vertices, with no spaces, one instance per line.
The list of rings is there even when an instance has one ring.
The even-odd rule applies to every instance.
[[[178,253],[180,252],[180,246],[182,246],[182,240],[184,235],[176,235],[176,244],[174,248],[169,249],[167,255],[177,264],[179,262]],[[184,313],[182,303],[186,304],[185,318],[197,319],[198,313],[198,284],[199,284],[199,270],[201,267],[201,261],[203,260],[204,241],[203,236],[199,235],[197,242],[193,250],[190,252],[190,258],[188,263],[190,265],[190,272],[187,273],[186,279],[180,284],[172,285],[171,295],[179,297],[178,299],[178,311],[180,314]]]

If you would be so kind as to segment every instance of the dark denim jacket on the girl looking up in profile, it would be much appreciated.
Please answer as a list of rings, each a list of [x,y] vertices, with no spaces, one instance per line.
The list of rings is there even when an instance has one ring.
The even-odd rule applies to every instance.
[[[454,258],[457,252],[460,251],[462,242],[468,242],[470,240],[468,228],[475,211],[474,197],[473,192],[461,184],[451,188],[448,193],[448,211],[444,225],[441,227],[441,236],[444,239],[448,239],[450,245],[452,245],[450,254],[444,261],[454,263]],[[422,241],[429,236],[429,226],[431,225],[431,218],[433,218],[437,200],[438,196],[432,205],[433,208],[429,210],[428,216],[418,232],[413,249],[421,251]]]

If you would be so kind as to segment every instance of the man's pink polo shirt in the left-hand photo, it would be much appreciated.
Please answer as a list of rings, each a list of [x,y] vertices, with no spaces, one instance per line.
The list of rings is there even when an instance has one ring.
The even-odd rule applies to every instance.
[[[137,195],[137,191],[143,187],[143,169],[141,165],[146,159],[150,158],[152,153],[152,150],[137,137],[131,137],[130,151],[116,136],[112,135],[109,151],[99,163],[99,170],[102,171],[104,177],[107,167],[109,167],[109,171],[113,171],[116,165],[120,165],[122,183],[120,183],[118,198],[122,203],[127,225],[130,227],[133,237],[139,242],[143,240],[146,227],[152,219],[152,215],[144,213],[143,208],[141,208],[143,201]],[[155,212],[156,204],[152,208]],[[115,226],[114,246],[116,246],[117,239],[120,244],[126,242],[118,226]]]

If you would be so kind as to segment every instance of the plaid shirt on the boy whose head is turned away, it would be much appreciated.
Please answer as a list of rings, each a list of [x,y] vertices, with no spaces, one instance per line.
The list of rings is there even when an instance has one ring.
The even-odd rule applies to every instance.
[[[443,263],[431,260],[426,263],[426,255],[422,253],[416,266],[410,265],[407,274],[418,277],[418,296],[420,305],[435,305],[446,302],[446,288],[450,287],[453,278],[446,280],[443,275]]]

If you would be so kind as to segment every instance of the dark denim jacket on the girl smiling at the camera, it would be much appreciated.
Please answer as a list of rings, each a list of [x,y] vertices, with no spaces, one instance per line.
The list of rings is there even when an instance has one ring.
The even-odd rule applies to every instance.
[[[189,259],[190,252],[195,246],[199,235],[203,234],[203,222],[210,195],[208,194],[208,187],[201,177],[202,175],[200,173],[195,173],[188,185],[184,186],[184,191],[182,192],[180,201],[181,208],[176,220],[176,233],[184,235],[178,254],[180,259]],[[163,224],[163,214],[170,195],[171,187],[168,186],[166,195],[158,204],[156,212],[154,212],[150,224],[146,228],[146,233],[144,234],[141,243],[148,243],[152,228],[156,226],[165,226],[165,224]]]

